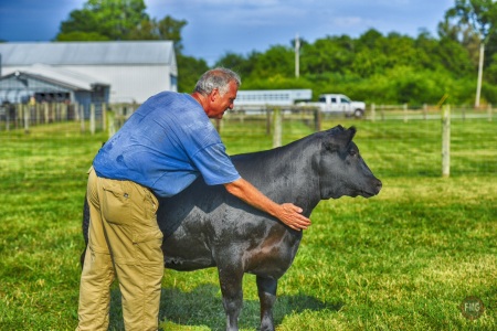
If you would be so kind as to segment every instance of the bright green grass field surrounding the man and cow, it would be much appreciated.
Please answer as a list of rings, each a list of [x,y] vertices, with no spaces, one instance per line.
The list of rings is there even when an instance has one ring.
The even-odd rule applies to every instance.
[[[453,121],[442,178],[440,121],[353,121],[355,141],[383,181],[372,199],[322,201],[281,279],[277,330],[495,330],[497,124]],[[0,132],[0,330],[74,330],[86,170],[106,139],[57,124]],[[284,124],[284,143],[310,134]],[[271,148],[265,125],[226,121],[230,153]],[[243,330],[258,327],[255,278],[244,279]],[[478,297],[478,319],[463,316]],[[166,270],[165,330],[223,330],[215,269]],[[113,289],[110,329],[123,330]]]

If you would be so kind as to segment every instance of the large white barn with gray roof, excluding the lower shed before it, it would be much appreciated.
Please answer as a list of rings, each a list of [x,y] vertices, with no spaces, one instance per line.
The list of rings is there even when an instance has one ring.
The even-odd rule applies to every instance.
[[[171,41],[0,43],[0,77],[24,73],[57,83],[84,77],[88,86],[108,86],[109,103],[141,104],[178,89]]]

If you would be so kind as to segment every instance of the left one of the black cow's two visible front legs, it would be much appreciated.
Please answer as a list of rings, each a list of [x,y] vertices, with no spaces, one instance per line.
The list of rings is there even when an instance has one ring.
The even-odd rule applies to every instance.
[[[218,267],[224,311],[226,312],[226,330],[239,330],[239,316],[243,306],[242,278],[243,269],[234,265]]]

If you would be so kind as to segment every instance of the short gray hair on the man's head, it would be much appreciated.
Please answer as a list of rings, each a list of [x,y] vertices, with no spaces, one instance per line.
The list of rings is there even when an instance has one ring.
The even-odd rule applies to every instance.
[[[213,89],[218,88],[219,93],[223,95],[230,88],[230,82],[235,82],[236,87],[242,85],[242,79],[239,74],[229,68],[216,67],[205,72],[199,78],[194,92],[198,92],[201,95],[209,95]]]

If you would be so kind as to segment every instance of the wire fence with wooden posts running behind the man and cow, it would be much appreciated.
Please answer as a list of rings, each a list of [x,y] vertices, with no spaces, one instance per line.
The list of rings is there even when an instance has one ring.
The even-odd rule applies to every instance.
[[[77,121],[82,132],[112,137],[139,105],[9,105],[0,108],[0,132]],[[361,119],[309,107],[234,109],[213,120],[229,153],[264,150],[331,128],[358,128],[355,141],[368,162],[389,177],[497,174],[497,125],[491,106],[372,106]]]

